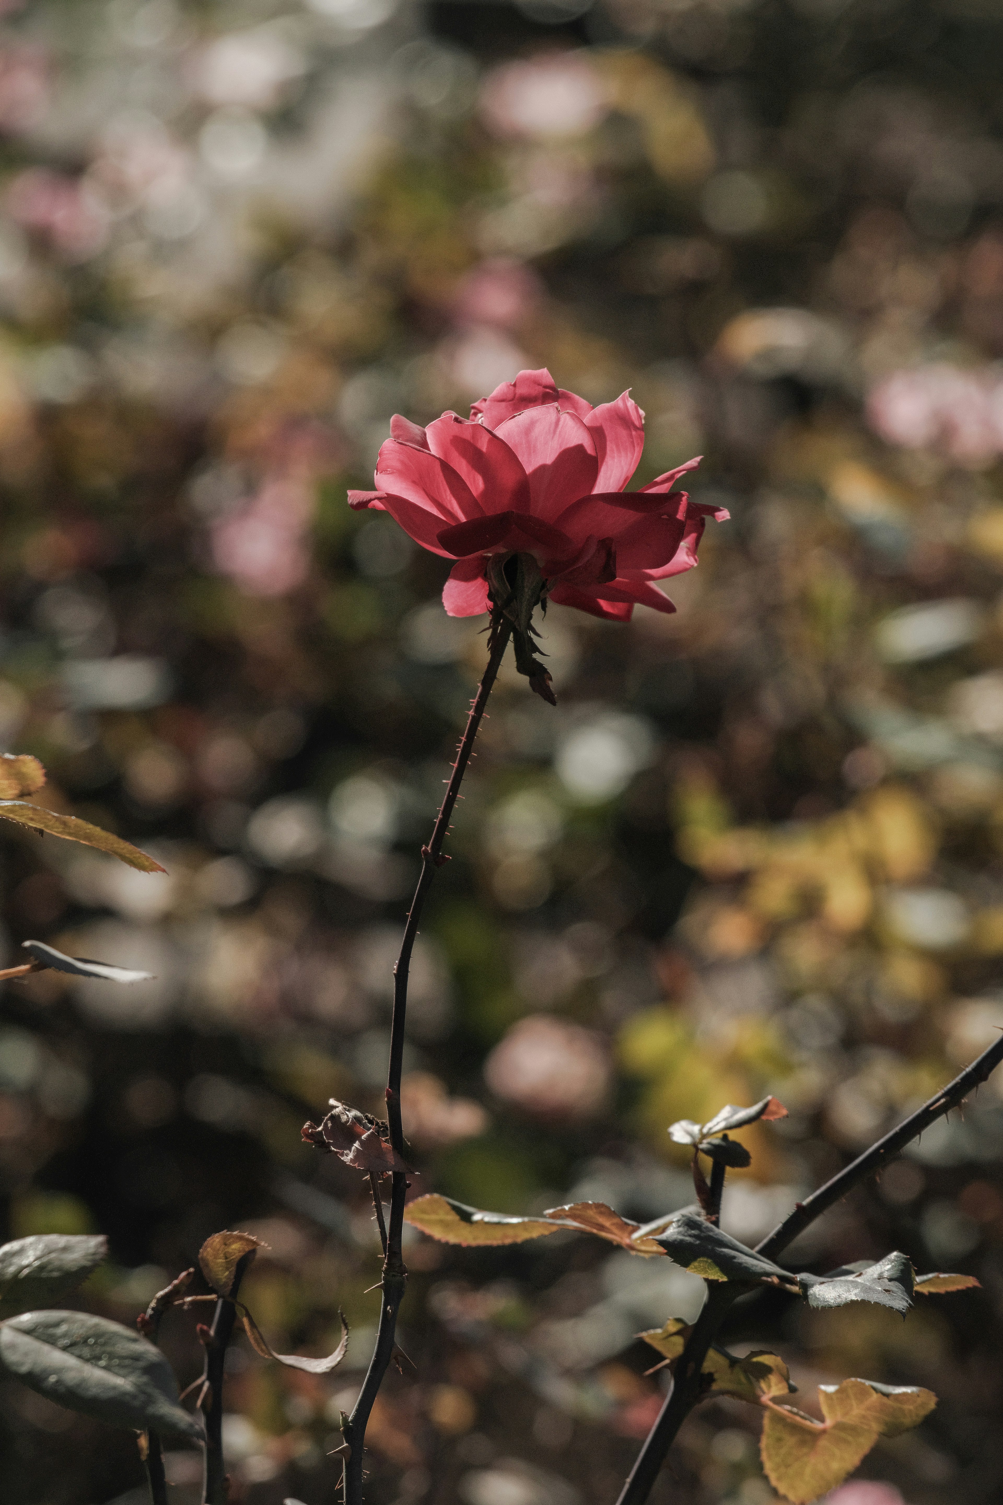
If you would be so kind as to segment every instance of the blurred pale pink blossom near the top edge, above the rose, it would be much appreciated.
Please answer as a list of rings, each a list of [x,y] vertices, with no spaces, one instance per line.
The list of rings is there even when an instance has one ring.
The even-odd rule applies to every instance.
[[[583,53],[502,63],[481,89],[484,123],[501,137],[582,135],[605,113],[601,83]]]

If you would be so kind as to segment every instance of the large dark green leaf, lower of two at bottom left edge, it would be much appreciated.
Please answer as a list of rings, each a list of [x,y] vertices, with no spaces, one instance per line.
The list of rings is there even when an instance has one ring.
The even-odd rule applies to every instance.
[[[202,1437],[171,1368],[138,1332],[90,1312],[24,1312],[0,1323],[0,1367],[60,1406],[137,1431]]]

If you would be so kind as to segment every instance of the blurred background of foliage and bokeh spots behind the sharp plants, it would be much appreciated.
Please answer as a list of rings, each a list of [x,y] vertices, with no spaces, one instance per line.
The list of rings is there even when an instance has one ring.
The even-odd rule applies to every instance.
[[[146,876],[14,828],[24,938],[156,974],[5,984],[6,1236],[101,1228],[135,1311],[221,1227],[280,1347],[229,1379],[235,1497],[334,1502],[368,1358],[361,1178],[417,850],[484,662],[444,567],[352,515],[394,411],[525,366],[647,409],[642,479],[725,504],[678,614],[553,608],[556,712],[502,674],[415,956],[421,1189],[692,1199],[666,1126],[776,1093],[725,1227],[762,1236],[1003,1026],[998,0],[5,0],[0,736]],[[761,1303],[803,1388],[941,1395],[842,1505],[997,1500],[1003,1102],[989,1082],[811,1237],[983,1291],[902,1324]],[[692,1317],[669,1261],[415,1236],[370,1496],[609,1505]],[[191,1321],[164,1341],[182,1385]],[[131,1437],[3,1386],[6,1497],[144,1497]],[[198,1458],[168,1460],[179,1505]],[[653,1499],[774,1496],[737,1403]]]

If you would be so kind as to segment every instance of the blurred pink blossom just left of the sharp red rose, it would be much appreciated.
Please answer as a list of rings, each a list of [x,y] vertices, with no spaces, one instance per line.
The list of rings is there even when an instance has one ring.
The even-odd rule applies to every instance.
[[[248,596],[284,596],[307,578],[305,531],[313,488],[272,477],[236,512],[212,524],[212,560]]]

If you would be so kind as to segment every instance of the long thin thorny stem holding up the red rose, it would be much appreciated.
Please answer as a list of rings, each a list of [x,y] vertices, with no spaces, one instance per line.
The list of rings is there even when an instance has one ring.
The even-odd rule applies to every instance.
[[[471,754],[474,751],[477,728],[481,724],[487,697],[495,685],[498,668],[510,637],[511,623],[505,622],[498,613],[495,613],[489,640],[487,668],[484,670],[484,677],[478,685],[477,697],[471,706],[466,730],[463,731],[457,748],[456,763],[453,765],[453,774],[447,786],[445,798],[439,807],[435,826],[432,828],[432,837],[429,844],[421,849],[421,874],[418,877],[418,886],[415,888],[415,897],[412,898],[411,909],[408,912],[408,924],[405,926],[405,936],[400,944],[400,956],[397,957],[397,965],[394,966],[394,1014],[389,1032],[389,1067],[386,1072],[386,1120],[389,1124],[389,1142],[402,1159],[405,1156],[405,1135],[400,1121],[400,1073],[405,1057],[405,1016],[408,1011],[408,972],[411,968],[411,953],[415,948],[418,924],[421,923],[421,911],[436,868],[441,867],[442,862],[448,861],[442,855],[442,843],[445,841],[450,829],[450,820],[453,819],[453,808],[456,805],[457,795],[460,793],[463,774],[466,772],[466,766],[471,762]],[[365,1427],[368,1424],[376,1395],[379,1394],[379,1388],[383,1383],[383,1376],[386,1374],[394,1356],[397,1311],[408,1284],[408,1270],[402,1258],[406,1193],[408,1177],[403,1171],[395,1171],[389,1196],[389,1225],[386,1228],[382,1278],[383,1299],[379,1314],[376,1347],[373,1348],[373,1358],[370,1359],[370,1367],[365,1374],[359,1398],[355,1403],[352,1415],[341,1428],[347,1443],[347,1452],[344,1454],[344,1505],[361,1505]],[[379,1209],[379,1196],[374,1199]],[[208,1500],[206,1505],[215,1505],[215,1500]]]

